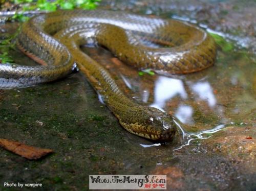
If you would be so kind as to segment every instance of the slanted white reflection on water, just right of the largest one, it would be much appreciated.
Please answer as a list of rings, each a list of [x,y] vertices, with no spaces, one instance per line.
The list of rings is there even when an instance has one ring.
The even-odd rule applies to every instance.
[[[207,101],[210,107],[216,105],[214,92],[209,82],[197,82],[193,84],[191,88],[198,95],[199,99]]]

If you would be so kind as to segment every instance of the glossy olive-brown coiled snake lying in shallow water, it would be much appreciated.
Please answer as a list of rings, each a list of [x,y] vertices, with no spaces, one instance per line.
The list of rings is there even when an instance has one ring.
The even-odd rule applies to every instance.
[[[150,42],[150,43],[148,43]],[[29,87],[78,68],[127,131],[158,142],[179,135],[176,118],[127,98],[109,71],[80,50],[103,46],[126,64],[159,74],[187,74],[214,64],[216,45],[203,29],[175,19],[107,10],[59,10],[23,23],[15,39],[36,66],[0,64],[0,88]]]

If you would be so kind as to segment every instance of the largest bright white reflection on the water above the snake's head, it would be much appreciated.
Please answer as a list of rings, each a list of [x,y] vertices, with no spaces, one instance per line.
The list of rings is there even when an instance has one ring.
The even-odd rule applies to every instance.
[[[187,93],[181,80],[164,76],[160,76],[157,79],[154,92],[154,103],[150,106],[161,111],[164,111],[165,102],[175,96],[180,96],[182,99],[187,98]]]

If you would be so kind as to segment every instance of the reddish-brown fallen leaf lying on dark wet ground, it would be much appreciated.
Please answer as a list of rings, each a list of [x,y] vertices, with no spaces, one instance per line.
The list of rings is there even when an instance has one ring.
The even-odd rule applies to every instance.
[[[53,150],[51,149],[41,149],[36,147],[31,147],[25,144],[22,144],[17,141],[12,141],[4,138],[0,138],[0,147],[11,151],[17,155],[25,157],[27,159],[39,159],[42,156],[45,156],[49,153],[52,153]]]

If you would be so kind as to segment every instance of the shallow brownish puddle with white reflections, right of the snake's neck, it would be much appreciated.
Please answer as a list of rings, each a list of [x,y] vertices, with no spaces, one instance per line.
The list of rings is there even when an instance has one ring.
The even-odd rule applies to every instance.
[[[171,77],[146,73],[140,76],[135,68],[105,49],[83,50],[108,68],[127,97],[176,116],[183,134],[215,129],[221,124],[224,128],[254,123],[256,65],[253,55],[245,50],[219,50],[215,66]]]

